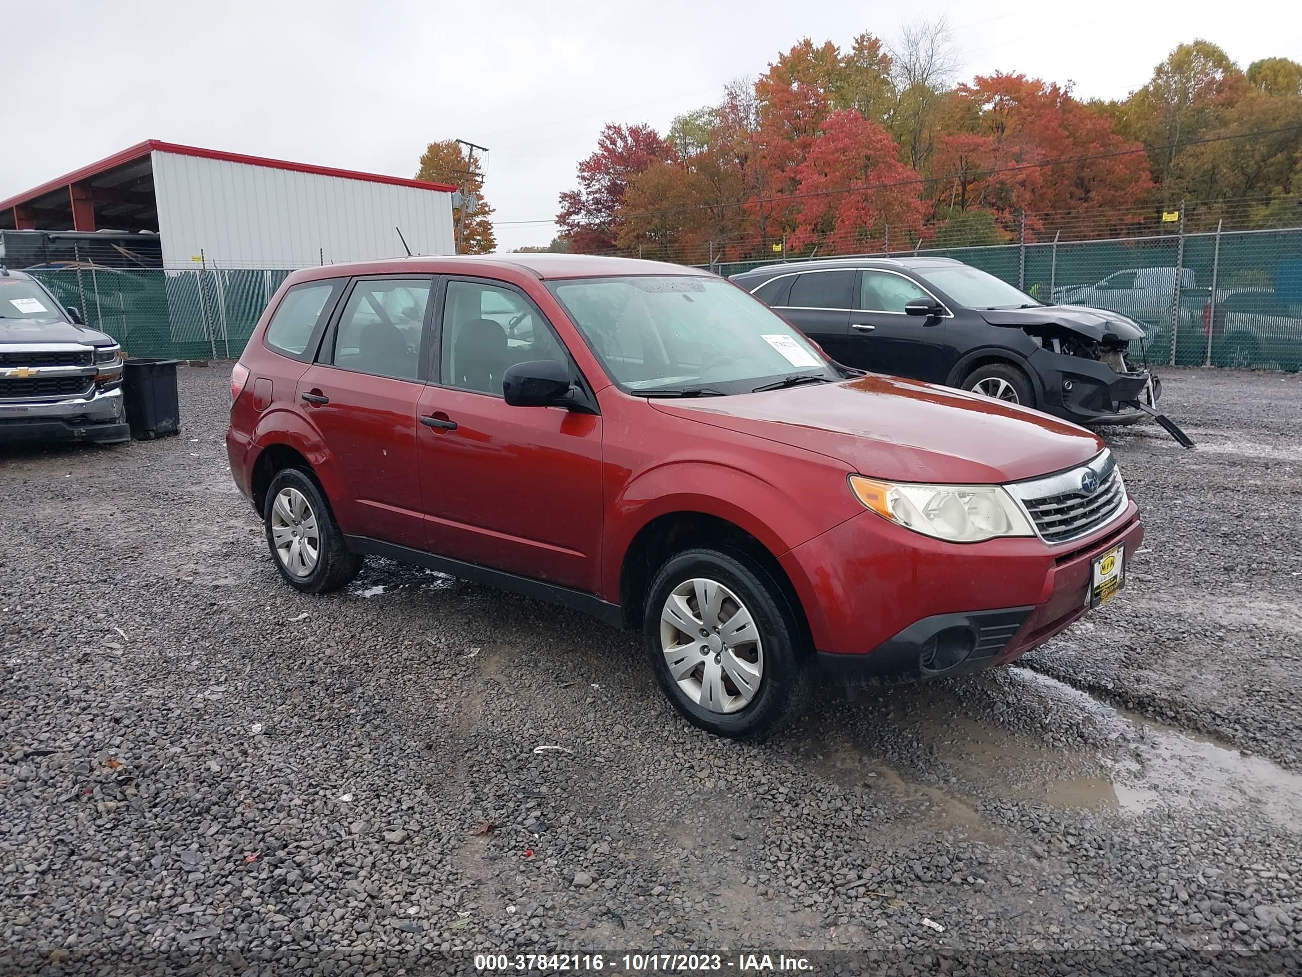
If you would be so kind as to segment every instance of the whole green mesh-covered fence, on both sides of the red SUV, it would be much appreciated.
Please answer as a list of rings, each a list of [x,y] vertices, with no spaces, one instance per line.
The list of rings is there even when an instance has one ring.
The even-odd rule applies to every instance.
[[[1302,228],[892,253],[983,268],[1046,302],[1141,322],[1150,362],[1302,369]],[[865,255],[865,257],[881,257]],[[772,262],[712,266],[734,275]],[[33,271],[132,356],[234,358],[288,270]]]

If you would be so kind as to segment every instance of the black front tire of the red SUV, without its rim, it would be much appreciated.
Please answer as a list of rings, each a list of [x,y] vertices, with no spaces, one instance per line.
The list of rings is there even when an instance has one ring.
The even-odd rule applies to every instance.
[[[759,647],[763,650],[758,690],[745,706],[733,713],[713,711],[693,701],[673,677],[661,649],[660,620],[665,602],[676,586],[694,578],[711,580],[733,591],[750,611],[758,629]],[[693,726],[734,740],[758,739],[785,728],[809,707],[814,676],[805,630],[781,585],[769,571],[745,552],[686,550],[671,558],[656,573],[647,591],[643,633],[660,688]],[[719,662],[717,657],[715,662]],[[704,664],[702,662],[702,667]],[[732,683],[732,679],[727,683]]]

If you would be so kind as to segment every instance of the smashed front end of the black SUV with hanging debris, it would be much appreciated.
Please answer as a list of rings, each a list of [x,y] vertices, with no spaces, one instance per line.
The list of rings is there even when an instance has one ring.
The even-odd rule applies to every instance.
[[[1181,444],[1193,447],[1157,410],[1161,380],[1148,369],[1138,323],[1074,305],[990,309],[980,315],[991,326],[1021,330],[1035,343],[1027,362],[1040,380],[1044,409],[1087,425],[1129,425],[1152,417]]]

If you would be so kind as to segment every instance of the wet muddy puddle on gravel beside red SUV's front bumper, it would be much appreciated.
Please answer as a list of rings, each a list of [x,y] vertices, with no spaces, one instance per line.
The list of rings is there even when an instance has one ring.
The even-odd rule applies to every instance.
[[[802,761],[975,840],[999,840],[980,815],[991,801],[1121,818],[1250,809],[1302,834],[1302,775],[1029,668],[887,692],[853,719],[828,722]]]

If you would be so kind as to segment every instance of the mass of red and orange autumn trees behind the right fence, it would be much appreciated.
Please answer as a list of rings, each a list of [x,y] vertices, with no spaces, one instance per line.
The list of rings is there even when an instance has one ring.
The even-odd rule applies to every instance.
[[[880,250],[888,227],[892,250],[1036,240],[1048,220],[1124,233],[1181,199],[1260,197],[1260,225],[1302,212],[1294,61],[1243,72],[1197,40],[1130,98],[1088,103],[1016,72],[953,85],[956,64],[944,20],[889,44],[803,38],[664,137],[605,126],[561,194],[562,238],[704,263]]]

